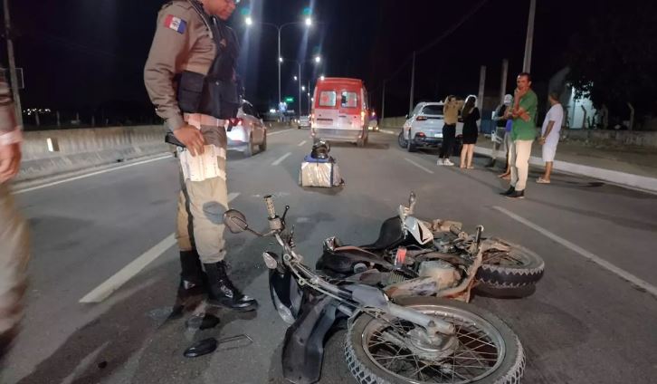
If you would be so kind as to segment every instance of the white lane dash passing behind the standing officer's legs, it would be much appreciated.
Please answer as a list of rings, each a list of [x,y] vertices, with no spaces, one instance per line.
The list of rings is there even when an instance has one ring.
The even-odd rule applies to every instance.
[[[240,196],[239,192],[229,194],[228,203],[232,202],[238,196]],[[167,252],[173,245],[176,245],[176,234],[168,235],[164,240],[157,243],[157,245],[124,266],[119,272],[109,277],[104,283],[101,283],[93,291],[82,297],[80,302],[91,303],[104,301],[112,293],[119,290],[123,284],[128,283],[131,278],[146,268],[148,264],[151,264],[157,257]]]

